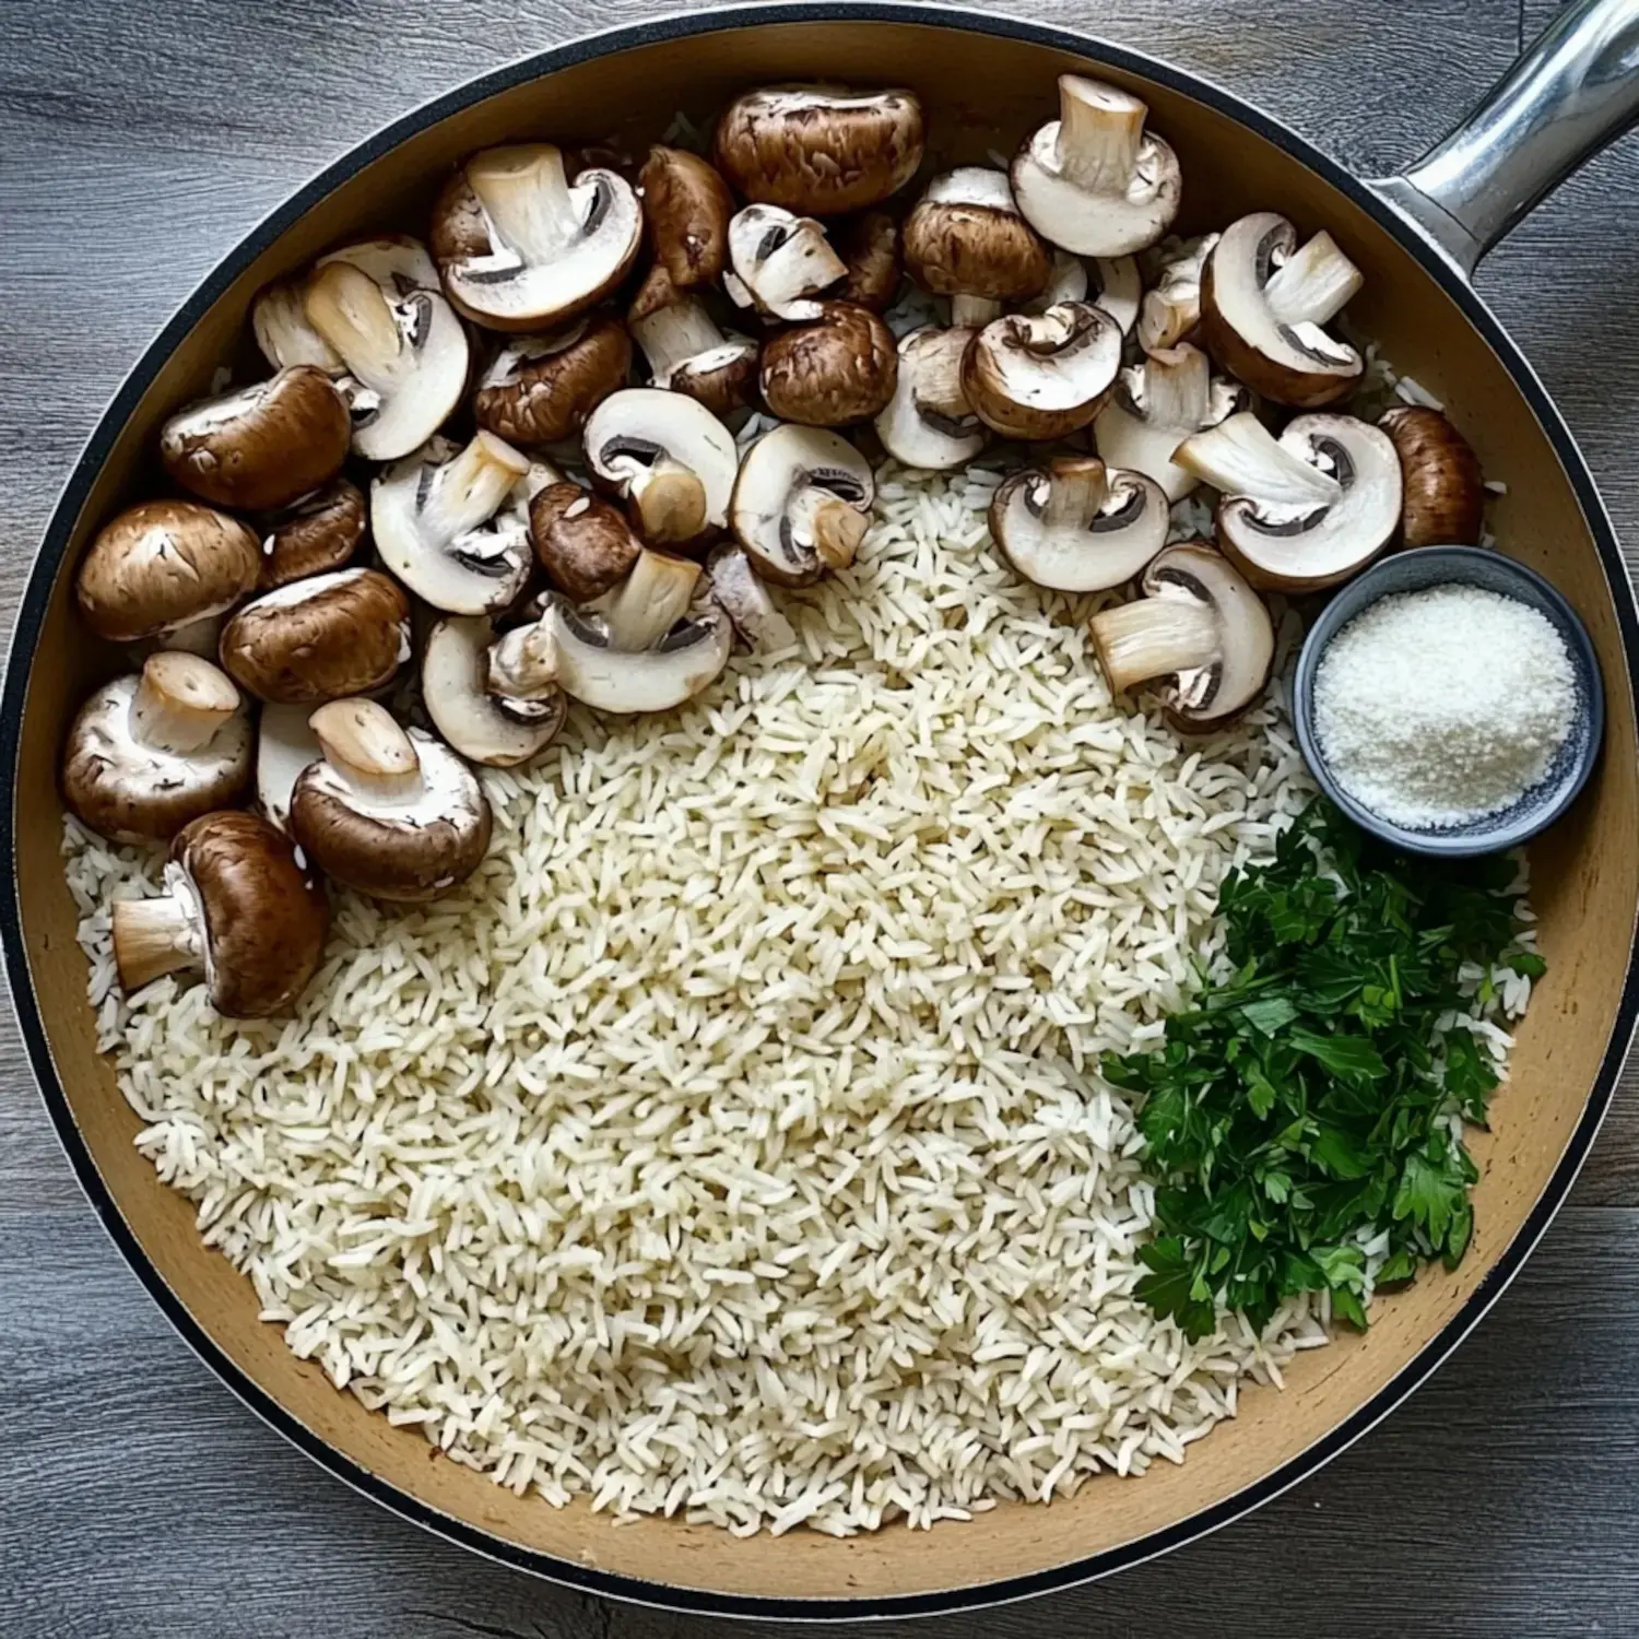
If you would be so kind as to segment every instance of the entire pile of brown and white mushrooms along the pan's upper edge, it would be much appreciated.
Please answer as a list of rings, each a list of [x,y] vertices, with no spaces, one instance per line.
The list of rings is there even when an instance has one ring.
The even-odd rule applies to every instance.
[[[323,877],[421,901],[480,867],[472,764],[539,756],[570,701],[667,711],[736,642],[793,646],[780,588],[852,564],[883,454],[1000,459],[998,551],[1046,588],[1134,587],[1093,647],[1185,731],[1264,688],[1262,590],[1478,538],[1444,416],[1334,408],[1365,369],[1328,328],[1360,272],[1267,211],[1174,236],[1178,157],[1131,93],[1062,75],[1010,169],[926,154],[910,90],[762,87],[710,157],[484,149],[425,239],[256,297],[264,379],[164,423],[177,493],[79,565],[126,664],[74,721],[64,797],[170,846],[162,897],[116,908],[126,988],[197,969],[226,1015],[292,1006]],[[939,316],[895,336],[906,280]],[[1198,485],[1216,543],[1169,544]]]

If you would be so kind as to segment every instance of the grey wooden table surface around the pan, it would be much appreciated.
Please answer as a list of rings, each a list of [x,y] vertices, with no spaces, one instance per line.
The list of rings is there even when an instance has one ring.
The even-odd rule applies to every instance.
[[[482,69],[652,0],[7,0],[0,7],[0,603],[95,416],[293,185]],[[1200,70],[1367,174],[1411,159],[1552,0],[1029,0]],[[1639,141],[1485,267],[1639,543]],[[1639,1100],[1496,1311],[1385,1426],[1280,1501],[957,1636],[1639,1632]],[[0,1033],[0,1634],[700,1639],[449,1547],[257,1423],[84,1205]],[[747,1629],[754,1631],[754,1629]],[[764,1629],[772,1631],[772,1629]],[[879,1632],[883,1629],[877,1629]],[[931,1629],[924,1629],[931,1631]]]

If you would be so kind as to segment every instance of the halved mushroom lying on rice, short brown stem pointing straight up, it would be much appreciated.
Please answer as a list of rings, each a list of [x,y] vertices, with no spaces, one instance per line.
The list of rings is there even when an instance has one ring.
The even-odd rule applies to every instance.
[[[1024,467],[990,502],[1001,556],[1052,592],[1103,592],[1131,580],[1167,544],[1167,497],[1154,479],[1096,456]]]

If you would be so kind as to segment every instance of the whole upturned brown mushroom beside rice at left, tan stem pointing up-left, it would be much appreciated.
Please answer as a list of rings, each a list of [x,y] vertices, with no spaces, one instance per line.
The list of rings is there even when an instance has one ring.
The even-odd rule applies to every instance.
[[[477,870],[490,805],[441,739],[403,729],[374,700],[311,716],[323,757],[302,770],[290,829],[321,870],[379,900],[431,900]]]

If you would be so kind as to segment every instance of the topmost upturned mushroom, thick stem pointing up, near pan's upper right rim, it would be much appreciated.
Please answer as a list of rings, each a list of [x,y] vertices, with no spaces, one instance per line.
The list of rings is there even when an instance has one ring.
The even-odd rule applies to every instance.
[[[1077,256],[1131,256],[1172,226],[1183,193],[1178,156],[1144,129],[1131,92],[1080,74],[1059,75],[1059,118],[1013,161],[1024,220]]]

